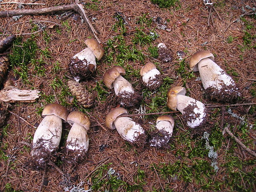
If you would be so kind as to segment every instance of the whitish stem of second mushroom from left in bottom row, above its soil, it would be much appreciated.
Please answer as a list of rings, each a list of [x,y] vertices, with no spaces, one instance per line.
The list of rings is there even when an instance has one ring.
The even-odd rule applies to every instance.
[[[66,148],[71,150],[81,150],[87,152],[89,146],[89,139],[87,135],[86,129],[79,125],[78,123],[74,123],[69,131],[68,138],[66,140]],[[79,152],[78,152],[78,155]]]

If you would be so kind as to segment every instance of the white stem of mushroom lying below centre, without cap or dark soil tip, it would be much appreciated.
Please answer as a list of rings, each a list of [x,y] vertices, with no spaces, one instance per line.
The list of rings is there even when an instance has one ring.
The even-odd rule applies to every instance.
[[[116,118],[114,125],[121,137],[129,142],[135,141],[138,136],[145,133],[143,128],[129,117]]]

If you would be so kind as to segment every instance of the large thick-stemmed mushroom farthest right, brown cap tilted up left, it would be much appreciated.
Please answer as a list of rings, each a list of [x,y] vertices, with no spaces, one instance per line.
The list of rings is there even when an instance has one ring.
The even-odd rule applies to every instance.
[[[232,101],[240,96],[235,81],[214,62],[211,52],[198,51],[189,63],[192,71],[199,71],[204,89],[211,99]]]

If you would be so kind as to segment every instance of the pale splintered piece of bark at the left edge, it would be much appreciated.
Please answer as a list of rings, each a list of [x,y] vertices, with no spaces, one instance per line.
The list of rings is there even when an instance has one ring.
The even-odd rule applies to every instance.
[[[39,90],[20,90],[14,86],[6,86],[0,91],[0,100],[4,102],[35,102],[40,96]]]

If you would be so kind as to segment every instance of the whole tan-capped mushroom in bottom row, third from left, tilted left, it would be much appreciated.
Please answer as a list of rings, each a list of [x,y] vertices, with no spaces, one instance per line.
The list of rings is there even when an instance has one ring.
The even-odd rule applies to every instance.
[[[111,130],[116,129],[124,140],[138,146],[144,145],[146,138],[144,129],[129,117],[119,117],[127,114],[126,109],[122,107],[111,110],[106,116],[106,126]]]

